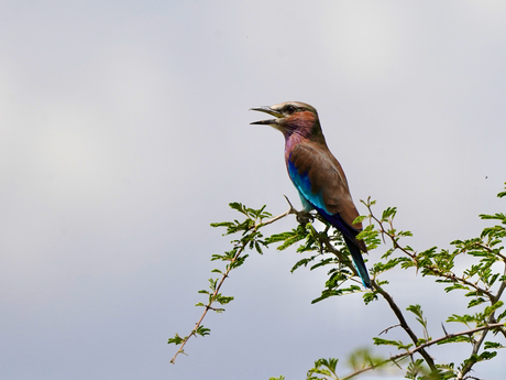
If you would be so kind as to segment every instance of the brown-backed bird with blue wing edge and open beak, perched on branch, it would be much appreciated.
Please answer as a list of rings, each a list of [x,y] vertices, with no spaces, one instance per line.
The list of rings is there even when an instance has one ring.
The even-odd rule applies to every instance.
[[[367,252],[367,248],[356,239],[362,224],[353,222],[359,211],[341,164],[327,146],[317,110],[301,101],[250,110],[274,116],[274,119],[253,121],[251,124],[271,126],[283,133],[286,169],[299,193],[304,210],[316,209],[342,234],[363,285],[371,289],[371,279],[361,253]]]

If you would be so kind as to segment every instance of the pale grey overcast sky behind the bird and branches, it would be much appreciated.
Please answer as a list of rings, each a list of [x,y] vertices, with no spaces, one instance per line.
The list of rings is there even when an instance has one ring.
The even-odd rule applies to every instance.
[[[418,250],[504,211],[505,20],[501,0],[0,2],[1,377],[292,380],[370,345],[396,323],[384,302],[311,305],[324,273],[274,249],[226,282],[188,357],[166,341],[200,316],[228,203],[299,205],[251,107],[317,108],[358,206],[397,206]],[[388,290],[439,337],[464,304],[409,274]],[[504,377],[501,355],[474,374]]]

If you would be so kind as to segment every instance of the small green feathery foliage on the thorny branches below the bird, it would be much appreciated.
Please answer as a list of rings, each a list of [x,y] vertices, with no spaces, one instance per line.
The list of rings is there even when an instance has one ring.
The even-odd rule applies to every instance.
[[[506,185],[506,184],[505,184]],[[498,197],[506,196],[506,191]],[[362,202],[369,214],[359,217],[355,221],[365,225],[358,236],[365,242],[370,252],[374,251],[374,262],[369,263],[372,289],[364,290],[351,261],[350,252],[341,234],[332,228],[318,215],[299,217],[301,213],[290,209],[275,218],[260,209],[248,208],[240,203],[232,203],[230,207],[242,215],[242,220],[212,224],[213,227],[224,227],[226,236],[239,236],[231,241],[232,248],[223,254],[213,254],[211,260],[226,263],[224,269],[215,269],[213,273],[221,274],[221,279],[209,279],[209,289],[199,291],[207,295],[205,313],[196,328],[186,337],[177,334],[168,343],[183,346],[194,335],[205,336],[209,329],[201,326],[201,321],[209,310],[222,312],[222,305],[230,303],[233,297],[220,293],[223,281],[231,270],[241,267],[248,254],[245,249],[263,253],[263,249],[272,245],[279,251],[295,249],[300,258],[292,267],[292,272],[306,268],[326,270],[327,280],[321,294],[312,303],[321,302],[331,296],[342,296],[360,293],[367,305],[373,301],[385,301],[391,307],[398,324],[385,328],[400,328],[405,333],[403,339],[385,339],[374,337],[373,344],[378,347],[396,347],[398,354],[389,357],[374,355],[371,349],[359,349],[352,352],[349,365],[353,372],[345,377],[338,377],[338,359],[319,359],[307,373],[307,380],[316,379],[350,379],[365,371],[378,370],[388,366],[403,369],[407,379],[439,380],[465,379],[479,362],[494,359],[498,349],[505,347],[506,341],[506,311],[502,301],[506,289],[506,256],[504,254],[504,238],[506,237],[506,215],[481,215],[483,220],[496,222],[486,227],[479,237],[451,242],[452,249],[430,247],[417,251],[405,243],[413,234],[409,230],[398,229],[395,225],[396,207],[388,207],[381,216],[376,216],[373,208],[375,202],[369,198]],[[288,214],[297,214],[297,220],[304,222],[289,231],[278,232],[268,237],[262,235],[261,229]],[[271,218],[271,219],[267,219]],[[314,220],[322,222],[318,229]],[[376,253],[376,251],[382,253]],[[370,253],[372,254],[372,253]],[[373,257],[373,256],[371,256]],[[364,258],[367,261],[366,258]],[[451,326],[464,326],[464,330],[448,333],[442,325],[442,335],[433,338],[429,334],[428,321],[419,304],[414,303],[403,311],[391,295],[389,282],[395,279],[395,271],[411,271],[414,275],[432,279],[444,284],[444,292],[454,292],[455,296],[468,300],[468,308],[472,313],[454,313],[446,318]],[[463,292],[462,292],[463,291]],[[215,303],[220,307],[213,307]],[[407,314],[406,314],[407,312]],[[413,322],[414,321],[414,322]],[[383,332],[382,332],[383,333]],[[487,339],[490,333],[494,339]],[[381,334],[380,334],[381,335]],[[441,362],[427,352],[432,345],[465,344],[469,346],[469,356],[460,363]],[[177,356],[177,354],[176,354]],[[173,359],[174,360],[174,359]],[[283,380],[284,377],[271,378]]]

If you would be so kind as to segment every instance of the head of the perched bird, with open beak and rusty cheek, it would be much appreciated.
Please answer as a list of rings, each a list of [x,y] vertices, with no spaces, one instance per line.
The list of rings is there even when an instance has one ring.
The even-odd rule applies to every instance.
[[[285,138],[293,133],[310,138],[321,134],[317,110],[301,101],[286,101],[271,107],[251,108],[275,117],[275,119],[253,121],[252,124],[271,126],[279,130]]]

